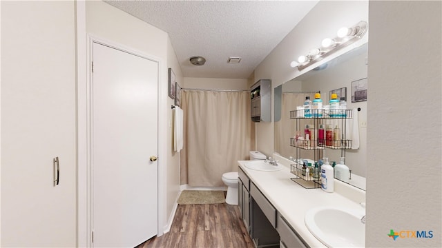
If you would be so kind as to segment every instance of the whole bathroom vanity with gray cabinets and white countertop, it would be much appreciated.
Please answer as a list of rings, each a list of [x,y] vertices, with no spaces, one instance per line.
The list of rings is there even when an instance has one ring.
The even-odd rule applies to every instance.
[[[289,165],[264,172],[249,169],[247,162],[238,161],[238,205],[256,247],[325,247],[307,229],[307,211],[321,206],[361,208],[359,203],[365,202],[365,192],[340,183],[336,191],[342,194],[305,189],[290,180],[294,174]]]

